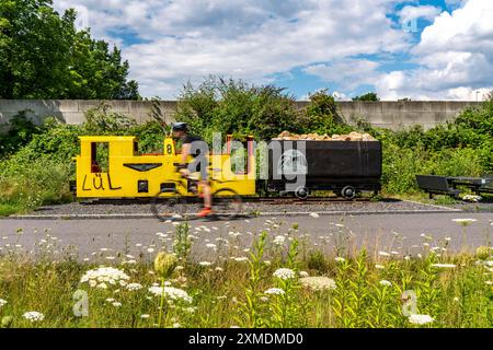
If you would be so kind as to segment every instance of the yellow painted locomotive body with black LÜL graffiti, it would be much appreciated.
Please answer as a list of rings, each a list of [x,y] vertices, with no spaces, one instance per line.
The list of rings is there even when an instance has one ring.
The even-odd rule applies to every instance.
[[[162,154],[138,154],[136,137],[80,137],[81,153],[77,162],[78,198],[146,198],[161,191],[161,184],[176,186],[181,196],[188,192],[186,180],[176,172],[181,155],[176,154],[175,142],[171,138],[163,141]],[[106,144],[107,164],[98,164],[98,145]],[[104,159],[104,158],[103,158]],[[255,158],[249,155],[249,171],[245,174],[231,172],[229,154],[209,155],[213,194],[231,189],[240,196],[255,195]],[[104,165],[104,166],[103,166]],[[139,192],[139,182],[148,183],[148,191]],[[232,192],[231,192],[232,194]],[[228,195],[223,191],[219,195]],[[162,197],[175,194],[161,194]]]

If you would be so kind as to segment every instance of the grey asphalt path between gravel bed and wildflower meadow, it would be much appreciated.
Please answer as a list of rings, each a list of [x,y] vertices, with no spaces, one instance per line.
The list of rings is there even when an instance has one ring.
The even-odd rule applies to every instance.
[[[474,219],[462,228],[454,219]],[[307,238],[311,248],[333,249],[342,245],[362,246],[370,250],[394,252],[401,255],[419,254],[423,249],[443,246],[448,250],[462,246],[466,236],[470,248],[492,245],[493,213],[408,213],[370,215],[262,217],[225,221],[192,221],[195,236],[194,254],[207,258],[207,244],[217,238],[234,240],[239,252],[248,248],[254,237],[267,230],[276,235],[298,235]],[[157,219],[126,220],[0,220],[0,253],[33,252],[35,244],[45,244],[53,250],[70,250],[80,259],[119,258],[124,255],[153,256],[157,250],[170,249],[175,223]],[[295,230],[297,229],[297,230]],[[157,235],[157,233],[159,233]],[[41,242],[41,243],[39,243]],[[397,253],[395,253],[397,254]]]

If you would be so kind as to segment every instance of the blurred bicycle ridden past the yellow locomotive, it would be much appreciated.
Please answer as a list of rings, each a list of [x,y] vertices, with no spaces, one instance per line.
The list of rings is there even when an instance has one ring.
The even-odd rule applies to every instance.
[[[213,172],[215,172],[213,170]],[[220,172],[220,171],[218,171]],[[227,184],[229,180],[211,179],[211,183]],[[152,213],[162,222],[168,220],[190,220],[194,217],[187,212],[190,209],[190,199],[203,198],[200,192],[200,180],[192,176],[182,176],[182,178],[168,178],[163,184],[174,184],[170,188],[161,190],[151,200]],[[192,194],[183,196],[182,194]],[[163,197],[162,195],[167,195]],[[220,188],[213,192],[213,205],[215,208],[211,218],[219,220],[231,220],[238,218],[241,213],[243,200],[234,189]]]

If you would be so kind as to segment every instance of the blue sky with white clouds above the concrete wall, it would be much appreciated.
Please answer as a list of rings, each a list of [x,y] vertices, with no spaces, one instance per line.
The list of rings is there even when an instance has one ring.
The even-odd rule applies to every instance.
[[[123,49],[145,96],[208,74],[297,98],[475,100],[493,86],[491,0],[55,0]]]

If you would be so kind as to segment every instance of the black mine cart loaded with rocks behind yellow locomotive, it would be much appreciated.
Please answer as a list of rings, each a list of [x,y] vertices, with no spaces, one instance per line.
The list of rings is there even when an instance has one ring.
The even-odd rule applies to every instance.
[[[354,199],[381,189],[382,148],[379,141],[272,141],[268,189],[308,198],[332,190]]]

